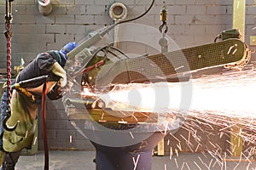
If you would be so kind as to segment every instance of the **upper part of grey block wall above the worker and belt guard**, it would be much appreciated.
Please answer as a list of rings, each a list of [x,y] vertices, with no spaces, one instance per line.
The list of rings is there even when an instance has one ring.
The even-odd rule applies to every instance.
[[[37,0],[19,1],[13,3],[13,31],[12,39],[13,65],[20,64],[20,57],[28,63],[36,54],[59,49],[65,42],[79,41],[89,31],[110,25],[113,20],[108,16],[108,8],[114,0],[82,1],[82,0],[53,0],[52,14],[44,16],[38,12]],[[122,2],[122,1],[121,1]],[[123,1],[128,8],[128,18],[142,14],[150,1]],[[4,28],[5,2],[0,3],[0,32]],[[148,15],[135,23],[160,26],[160,9],[162,1],[156,0]],[[222,30],[231,28],[232,1],[167,1],[168,35],[177,42],[180,48],[212,42],[213,38]],[[251,11],[251,12],[250,12]],[[252,13],[252,9],[249,10]],[[135,32],[134,32],[135,33]],[[143,36],[142,36],[143,37]],[[155,41],[152,39],[152,41]],[[2,34],[0,38],[0,66],[5,66],[6,42]]]

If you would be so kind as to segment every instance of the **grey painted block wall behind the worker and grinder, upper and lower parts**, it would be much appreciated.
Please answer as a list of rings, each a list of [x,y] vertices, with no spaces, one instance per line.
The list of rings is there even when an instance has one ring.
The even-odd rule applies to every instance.
[[[12,38],[12,65],[20,65],[21,57],[27,64],[40,52],[60,49],[66,42],[79,42],[89,31],[113,24],[113,20],[108,16],[109,5],[113,2],[115,1],[52,0],[53,12],[44,16],[38,12],[37,0],[15,0],[13,3],[15,34]],[[128,8],[127,18],[142,14],[150,4],[148,0],[120,0],[120,2],[125,3]],[[167,35],[177,42],[180,48],[213,42],[214,37],[221,31],[232,28],[232,3],[232,0],[167,0],[169,14]],[[246,42],[249,42],[249,36],[256,34],[254,29],[255,4],[254,0],[247,0]],[[157,30],[160,26],[161,8],[162,1],[155,0],[154,7],[149,14],[132,23],[143,24]],[[5,1],[1,1],[0,68],[6,67],[4,14]],[[150,39],[148,32],[134,30],[131,33],[136,35],[133,37],[147,37],[148,42],[158,42],[154,36],[150,36]],[[47,101],[47,111],[50,148],[93,149],[89,141],[80,136],[67,120],[61,100]],[[42,145],[42,134],[39,133],[39,149],[42,149]]]

